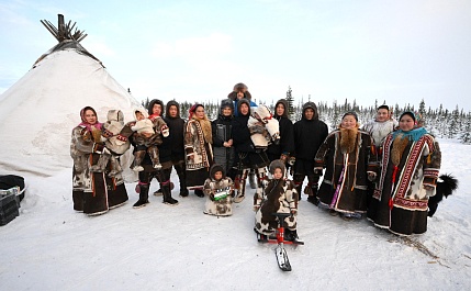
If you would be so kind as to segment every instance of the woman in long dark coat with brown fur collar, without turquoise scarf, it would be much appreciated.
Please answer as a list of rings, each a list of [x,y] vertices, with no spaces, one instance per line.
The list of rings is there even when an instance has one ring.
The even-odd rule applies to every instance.
[[[325,138],[314,158],[315,172],[326,168],[318,206],[329,209],[332,215],[340,213],[345,220],[361,219],[367,212],[367,180],[375,175],[373,141],[358,128],[357,113],[345,113],[338,130]]]

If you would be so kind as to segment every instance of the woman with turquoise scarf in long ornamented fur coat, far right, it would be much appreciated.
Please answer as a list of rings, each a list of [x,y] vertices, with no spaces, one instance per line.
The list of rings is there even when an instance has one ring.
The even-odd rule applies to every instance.
[[[417,123],[414,112],[404,112],[400,128],[384,138],[381,176],[368,210],[375,226],[397,235],[427,231],[428,198],[435,195],[441,165],[437,141]]]

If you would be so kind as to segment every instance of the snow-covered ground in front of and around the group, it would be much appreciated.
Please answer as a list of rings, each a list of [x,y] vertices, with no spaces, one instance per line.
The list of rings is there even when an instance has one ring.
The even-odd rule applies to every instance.
[[[21,214],[0,227],[0,290],[469,290],[471,147],[440,146],[441,172],[460,188],[426,234],[403,239],[302,200],[305,245],[287,246],[291,272],[278,268],[274,245],[256,240],[251,189],[233,216],[217,219],[202,213],[203,199],[177,198],[173,172],[179,205],[153,195],[135,210],[135,183],[127,183],[128,203],[89,217],[72,210],[70,168],[25,175]]]

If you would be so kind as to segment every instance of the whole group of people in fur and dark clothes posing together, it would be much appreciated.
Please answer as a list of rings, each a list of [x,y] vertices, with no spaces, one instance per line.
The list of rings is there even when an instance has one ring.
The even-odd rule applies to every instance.
[[[272,235],[280,223],[273,213],[283,212],[292,214],[283,222],[287,238],[298,238],[298,204],[305,178],[307,201],[332,215],[367,216],[400,235],[426,232],[427,201],[436,191],[441,155],[416,114],[404,112],[397,122],[381,105],[375,119],[360,128],[357,113],[346,112],[329,133],[314,102],[306,102],[301,120],[293,123],[281,99],[269,116],[278,121],[279,141],[259,147],[250,137],[270,133],[263,127],[266,121],[254,114],[256,108],[244,83],[222,100],[214,121],[201,103],[191,107],[184,121],[173,100],[166,107],[160,100],[150,101],[148,112],[135,110],[135,121],[126,124],[121,111],[110,111],[102,124],[92,108],[83,108],[70,145],[74,209],[94,215],[127,201],[120,156],[133,145],[132,169],[138,172],[139,194],[134,208],[149,203],[154,178],[164,203],[178,204],[171,197],[173,167],[180,197],[194,191],[206,197],[205,214],[232,215],[232,204],[244,200],[253,172],[254,230],[259,234]],[[248,126],[249,119],[259,126]]]

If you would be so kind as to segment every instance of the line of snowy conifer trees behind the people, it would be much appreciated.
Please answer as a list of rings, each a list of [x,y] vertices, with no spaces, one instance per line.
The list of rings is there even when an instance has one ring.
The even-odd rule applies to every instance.
[[[339,103],[337,100],[330,102],[311,100],[311,97],[309,97],[307,100],[301,98],[300,100],[298,100],[298,103],[295,103],[294,98],[292,96],[291,87],[288,88],[284,98],[287,99],[289,104],[288,112],[292,122],[296,122],[301,119],[303,104],[307,101],[313,101],[316,103],[319,120],[329,124],[330,130],[337,127],[337,125],[340,123],[341,115],[345,112],[355,111],[358,114],[358,119],[361,126],[361,124],[366,123],[367,121],[374,119],[377,112],[375,109],[378,107],[386,104],[392,108],[393,116],[395,119],[399,119],[401,113],[403,113],[404,111],[413,111],[415,113],[418,113],[418,115],[420,116],[420,122],[424,124],[427,131],[435,136],[440,138],[458,138],[463,144],[471,144],[471,112],[464,112],[464,110],[460,109],[458,105],[452,111],[444,109],[442,104],[440,104],[438,109],[431,109],[430,107],[428,107],[427,109],[425,100],[422,99],[417,107],[411,103],[404,104],[403,107],[399,105],[397,103],[392,105],[384,102],[379,103],[378,100],[374,102],[374,104],[371,104],[369,107],[362,107],[357,104],[356,100],[352,100],[350,102],[348,99],[345,99],[345,102]],[[272,112],[274,112],[274,103],[277,102],[277,100],[272,100],[271,103],[267,103],[257,99],[254,99],[253,101],[255,101],[256,103],[263,103],[269,107]],[[145,108],[147,108],[148,103],[148,98],[142,102],[143,107]],[[187,119],[188,111],[193,103],[188,101],[179,103],[180,115],[183,119]],[[221,100],[205,101],[202,103],[205,108],[208,117],[210,120],[215,120],[218,114]]]

